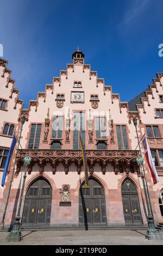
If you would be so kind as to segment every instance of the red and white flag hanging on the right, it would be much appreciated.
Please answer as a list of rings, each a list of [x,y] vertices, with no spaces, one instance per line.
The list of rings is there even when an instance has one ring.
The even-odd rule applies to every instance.
[[[152,159],[151,150],[150,150],[149,145],[148,145],[146,133],[142,137],[141,143],[142,143],[143,149],[145,151],[145,156],[146,156],[146,160],[147,160],[149,169],[151,170],[153,183],[156,184],[159,181],[159,177],[158,177],[158,174],[156,172],[155,165],[154,165],[154,162],[153,162],[153,159]]]

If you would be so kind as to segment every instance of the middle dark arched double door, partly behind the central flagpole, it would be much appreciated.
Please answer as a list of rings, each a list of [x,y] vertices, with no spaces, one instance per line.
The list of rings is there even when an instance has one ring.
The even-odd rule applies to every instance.
[[[79,191],[79,224],[103,225],[106,224],[105,193],[99,182],[89,179],[89,186],[80,187]]]

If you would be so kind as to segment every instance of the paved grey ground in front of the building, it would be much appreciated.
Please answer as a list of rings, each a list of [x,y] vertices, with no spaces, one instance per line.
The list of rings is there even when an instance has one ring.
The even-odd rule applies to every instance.
[[[8,232],[3,231],[0,232],[0,245],[163,245],[163,240],[147,240],[145,233],[146,230],[22,231],[21,242],[6,242]]]

